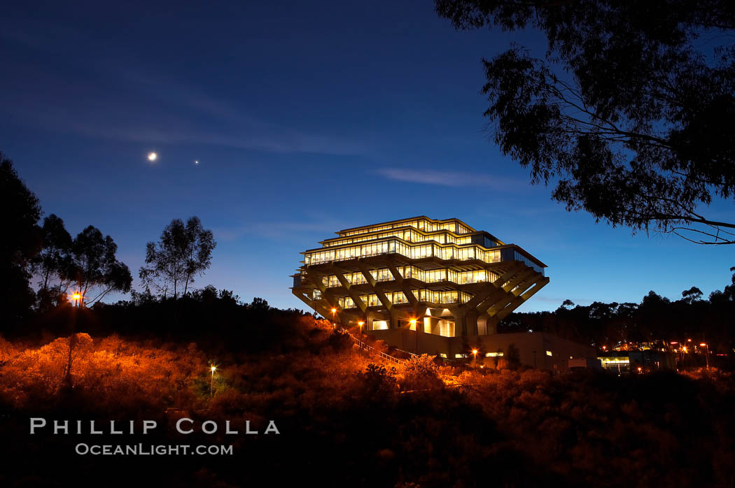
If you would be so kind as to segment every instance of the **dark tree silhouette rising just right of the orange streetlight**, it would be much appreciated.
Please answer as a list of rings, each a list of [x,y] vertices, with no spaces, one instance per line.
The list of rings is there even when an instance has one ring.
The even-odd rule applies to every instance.
[[[112,237],[103,237],[92,225],[74,238],[68,277],[79,287],[83,305],[98,302],[110,291],[130,291],[132,276],[128,267],[115,258],[117,251]],[[91,296],[93,293],[96,295]]]

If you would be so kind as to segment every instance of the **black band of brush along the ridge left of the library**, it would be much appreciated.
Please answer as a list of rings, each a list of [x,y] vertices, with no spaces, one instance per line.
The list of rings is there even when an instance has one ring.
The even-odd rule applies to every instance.
[[[290,350],[290,339],[298,335],[301,318],[312,317],[303,310],[270,307],[261,298],[241,302],[232,291],[217,291],[212,285],[179,299],[134,299],[115,304],[98,303],[77,308],[63,303],[51,310],[37,311],[28,321],[1,335],[6,338],[43,339],[86,332],[95,337],[121,335],[137,340],[198,343],[213,354],[253,354]]]

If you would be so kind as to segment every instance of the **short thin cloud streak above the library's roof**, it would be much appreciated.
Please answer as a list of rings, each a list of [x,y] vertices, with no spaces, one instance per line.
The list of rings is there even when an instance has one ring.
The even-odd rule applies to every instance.
[[[381,168],[379,175],[390,180],[408,181],[440,186],[485,186],[496,191],[514,191],[528,186],[527,181],[503,176],[459,171],[408,170],[405,168]]]

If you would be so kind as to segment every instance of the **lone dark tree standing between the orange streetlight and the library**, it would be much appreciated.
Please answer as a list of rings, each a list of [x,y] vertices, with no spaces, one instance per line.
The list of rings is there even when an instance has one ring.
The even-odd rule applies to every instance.
[[[217,243],[211,230],[205,230],[198,216],[186,225],[173,219],[165,227],[160,240],[146,244],[146,266],[140,268],[140,280],[153,286],[164,298],[173,288],[173,298],[183,295],[194,283],[194,277],[204,274],[212,264],[212,250]]]

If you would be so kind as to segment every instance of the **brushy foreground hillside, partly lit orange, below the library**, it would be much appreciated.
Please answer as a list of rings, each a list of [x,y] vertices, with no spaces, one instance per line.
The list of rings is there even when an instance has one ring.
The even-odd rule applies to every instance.
[[[228,305],[212,302],[207,313],[216,317],[221,306]],[[243,321],[226,327],[202,323],[200,341],[187,337],[188,326],[176,334],[167,327],[161,338],[95,333],[110,310],[84,313],[68,335],[0,340],[7,420],[0,455],[15,460],[0,470],[2,486],[144,479],[223,487],[307,480],[335,487],[688,487],[733,480],[735,385],[725,374],[551,376],[438,365],[429,357],[392,368],[328,322],[295,310],[249,307]],[[146,436],[51,429],[29,436],[32,416],[103,426],[152,419],[159,428]],[[173,428],[182,417],[220,428],[183,436]],[[225,420],[240,434],[225,434]],[[245,420],[260,434],[243,434]],[[279,434],[264,434],[268,420]],[[80,442],[232,444],[234,454],[113,459],[73,454]],[[123,464],[129,469],[121,472]]]

